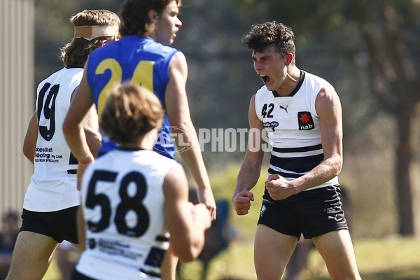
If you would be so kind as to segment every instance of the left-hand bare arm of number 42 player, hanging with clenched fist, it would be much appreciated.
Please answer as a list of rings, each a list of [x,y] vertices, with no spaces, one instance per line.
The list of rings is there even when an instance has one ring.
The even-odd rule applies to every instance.
[[[251,98],[248,111],[249,128],[258,133],[249,133],[248,148],[244,162],[242,162],[241,169],[237,177],[237,185],[232,201],[238,215],[248,214],[253,201],[253,193],[250,190],[255,186],[260,178],[262,158],[264,158],[264,151],[262,150],[262,133],[265,133],[262,122],[258,119],[255,112],[255,95]],[[258,145],[259,146],[255,146]]]

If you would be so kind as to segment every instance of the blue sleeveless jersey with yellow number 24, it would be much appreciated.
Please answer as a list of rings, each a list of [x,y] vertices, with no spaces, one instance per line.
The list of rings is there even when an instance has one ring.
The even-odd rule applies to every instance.
[[[162,45],[149,37],[125,36],[92,52],[87,62],[87,83],[92,90],[99,116],[108,99],[109,90],[125,80],[132,80],[155,92],[165,109],[165,89],[169,81],[169,63],[175,48]],[[100,124],[99,124],[100,125]],[[155,151],[174,158],[175,146],[169,134],[169,119],[165,114]],[[116,148],[107,137],[102,140],[99,154]]]

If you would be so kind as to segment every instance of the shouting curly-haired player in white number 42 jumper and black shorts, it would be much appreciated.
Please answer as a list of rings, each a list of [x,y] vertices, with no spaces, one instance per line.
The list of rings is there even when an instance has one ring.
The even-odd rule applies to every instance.
[[[326,80],[295,65],[294,34],[279,22],[253,25],[242,37],[264,85],[251,98],[250,137],[232,197],[238,215],[248,214],[257,183],[265,133],[270,165],[255,233],[258,280],[281,279],[297,239],[312,239],[332,279],[360,276],[342,210],[342,107]]]

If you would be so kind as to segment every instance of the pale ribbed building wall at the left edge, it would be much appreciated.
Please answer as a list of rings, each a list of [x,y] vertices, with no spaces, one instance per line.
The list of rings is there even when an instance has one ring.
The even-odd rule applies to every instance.
[[[22,212],[33,165],[22,153],[34,113],[34,0],[0,0],[0,215]]]

